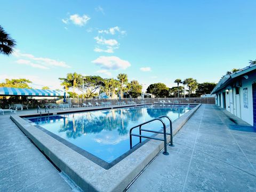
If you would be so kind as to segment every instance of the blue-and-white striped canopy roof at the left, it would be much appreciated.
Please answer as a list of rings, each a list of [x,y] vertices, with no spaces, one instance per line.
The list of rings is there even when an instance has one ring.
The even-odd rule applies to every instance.
[[[44,97],[63,97],[64,91],[56,91],[56,90],[38,90],[38,89],[21,89],[21,88],[13,88],[13,87],[0,87],[0,95],[1,96],[12,96],[12,95],[25,95],[25,96],[44,96]],[[66,94],[69,96],[69,94]]]

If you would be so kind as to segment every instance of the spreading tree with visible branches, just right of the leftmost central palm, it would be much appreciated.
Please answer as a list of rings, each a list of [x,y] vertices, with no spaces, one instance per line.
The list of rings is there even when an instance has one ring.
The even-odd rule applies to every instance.
[[[85,76],[84,77],[84,88],[85,98],[92,98],[95,96],[95,91],[99,90],[104,85],[104,79],[100,76]]]

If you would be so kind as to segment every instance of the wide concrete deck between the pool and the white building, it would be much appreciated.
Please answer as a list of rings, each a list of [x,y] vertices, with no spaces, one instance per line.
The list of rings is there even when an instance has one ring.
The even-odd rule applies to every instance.
[[[235,120],[236,123],[229,118]],[[256,132],[202,105],[128,191],[256,191]]]

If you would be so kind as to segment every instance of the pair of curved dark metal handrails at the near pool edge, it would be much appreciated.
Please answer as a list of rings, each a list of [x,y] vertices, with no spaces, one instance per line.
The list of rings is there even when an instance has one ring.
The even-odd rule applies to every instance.
[[[170,133],[166,133],[166,125],[165,125],[164,121],[162,120],[162,118],[169,119],[169,122],[170,122]],[[141,129],[142,125],[145,125],[145,124],[148,124],[148,123],[154,122],[154,121],[160,121],[163,124],[163,130],[164,130],[163,132]],[[139,127],[139,134],[132,133],[132,130],[137,128],[137,127]],[[142,135],[141,134],[142,131],[163,134],[164,138],[162,139],[162,138],[156,138],[156,137],[150,137],[150,136],[147,136],[147,135]],[[164,141],[164,152],[163,152],[163,154],[164,155],[169,155],[169,153],[167,152],[167,139],[166,139],[166,135],[170,135],[171,136],[169,146],[174,147],[174,145],[173,145],[173,135],[172,135],[172,120],[170,119],[170,117],[168,117],[168,116],[160,116],[160,117],[151,119],[151,120],[149,120],[147,122],[144,122],[144,123],[141,123],[139,125],[136,125],[136,126],[132,127],[132,129],[130,129],[130,149],[132,149],[132,136],[135,136],[135,137],[139,137],[140,138],[140,143],[141,143],[141,138],[147,138],[147,139],[154,139],[154,140]]]

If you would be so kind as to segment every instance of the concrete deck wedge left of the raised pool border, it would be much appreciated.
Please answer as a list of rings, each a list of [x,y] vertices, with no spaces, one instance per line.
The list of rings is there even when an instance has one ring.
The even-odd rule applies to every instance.
[[[0,115],[0,191],[72,191],[10,115]]]

